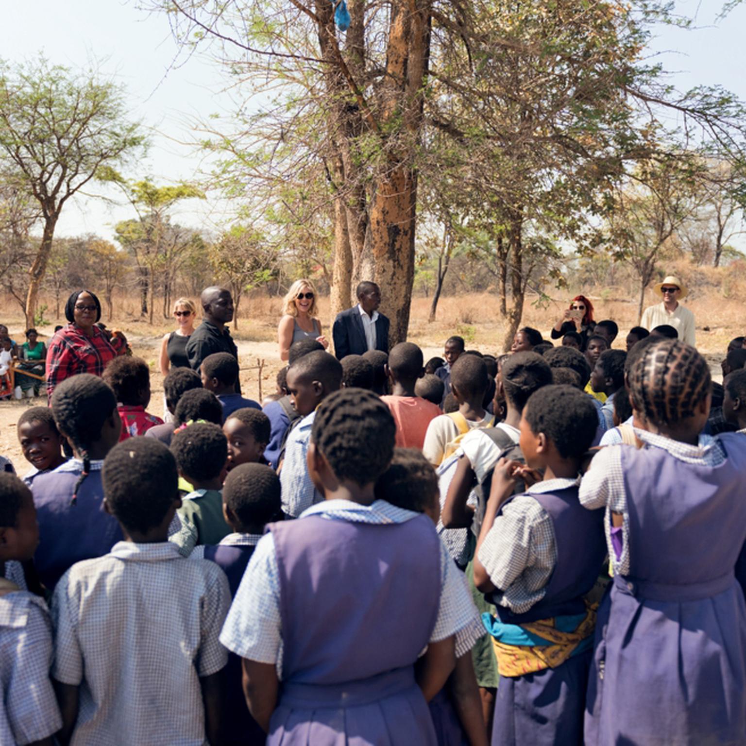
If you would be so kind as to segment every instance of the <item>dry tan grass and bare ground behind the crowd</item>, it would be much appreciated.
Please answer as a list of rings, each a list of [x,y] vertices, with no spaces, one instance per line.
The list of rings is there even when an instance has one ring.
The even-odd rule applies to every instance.
[[[727,343],[733,336],[746,332],[746,318],[742,292],[746,286],[743,269],[736,268],[730,272],[717,270],[699,270],[700,274],[688,277],[684,281],[692,286],[691,298],[686,301],[697,319],[697,342],[700,351],[707,354],[712,365],[713,374],[719,372],[719,360],[724,357]],[[715,273],[713,275],[712,273]],[[718,282],[715,289],[711,283]],[[574,289],[573,289],[574,290]],[[579,290],[557,294],[557,298],[539,307],[536,298],[528,298],[524,310],[524,325],[539,329],[545,336],[561,316],[569,299]],[[623,288],[585,289],[583,291],[595,305],[595,317],[614,319],[620,334],[615,347],[624,348],[624,336],[627,330],[637,323],[636,293]],[[46,301],[51,313],[54,303]],[[653,292],[649,291],[646,304],[655,302]],[[384,292],[385,304],[385,292]],[[277,351],[276,333],[280,319],[280,298],[255,297],[242,300],[238,319],[238,330],[231,329],[239,345],[239,357],[242,372],[241,383],[245,396],[259,398],[260,377],[257,361],[263,360],[261,374],[262,394],[275,391],[275,376],[282,364]],[[16,304],[9,298],[3,299],[3,312],[0,322],[9,327],[10,335],[22,341],[24,323]],[[468,348],[476,348],[492,354],[502,351],[506,322],[498,313],[498,296],[491,293],[457,295],[442,298],[438,307],[436,321],[427,322],[430,310],[429,298],[414,298],[410,319],[410,340],[424,350],[425,359],[442,354],[442,345],[451,334],[460,334],[466,339]],[[122,329],[127,335],[134,354],[143,357],[151,366],[152,398],[149,410],[157,415],[163,413],[163,376],[158,369],[157,357],[160,339],[173,327],[163,319],[149,325],[136,316],[137,301],[135,298],[116,300],[113,319],[106,316],[102,319],[110,328]],[[329,307],[327,298],[321,299],[321,319],[325,333],[330,333]],[[50,311],[47,311],[50,316]],[[54,331],[54,325],[64,319],[50,319],[50,324],[39,327],[41,339],[47,339]],[[718,379],[719,380],[719,379]],[[34,404],[46,404],[46,399],[4,401],[0,402],[0,454],[10,457],[20,472],[26,471],[26,464],[16,440],[16,421],[19,413]]]

